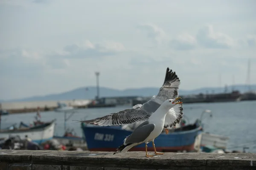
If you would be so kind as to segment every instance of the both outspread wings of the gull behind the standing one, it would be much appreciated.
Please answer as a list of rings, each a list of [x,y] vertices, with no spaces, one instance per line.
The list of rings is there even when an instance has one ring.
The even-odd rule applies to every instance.
[[[166,99],[173,99],[178,95],[179,78],[167,68],[166,77],[163,86],[154,99],[149,100],[143,105],[138,105],[137,108],[126,109],[117,113],[99,117],[96,119],[78,121],[92,125],[111,126],[111,125],[127,125],[135,122],[145,121],[154,113]]]

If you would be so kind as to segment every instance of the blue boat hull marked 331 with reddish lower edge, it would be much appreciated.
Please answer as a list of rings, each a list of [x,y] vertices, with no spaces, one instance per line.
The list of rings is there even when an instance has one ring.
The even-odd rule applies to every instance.
[[[126,136],[132,132],[121,129],[120,126],[86,126],[81,124],[84,136],[86,137],[87,147],[90,151],[116,151],[116,148],[123,144]],[[182,129],[183,128],[183,129]],[[199,125],[188,125],[176,129],[175,132],[161,133],[155,140],[155,146],[159,152],[177,152],[194,150],[195,137],[201,131]],[[145,144],[140,144],[131,148],[129,151],[145,151]],[[152,142],[148,143],[148,151],[154,151]]]

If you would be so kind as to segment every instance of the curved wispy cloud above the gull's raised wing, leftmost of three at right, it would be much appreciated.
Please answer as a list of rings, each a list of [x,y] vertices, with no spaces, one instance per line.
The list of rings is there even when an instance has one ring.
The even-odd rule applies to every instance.
[[[162,44],[166,40],[166,33],[163,29],[154,24],[141,24],[138,28],[146,31],[148,38],[151,38],[157,45]]]

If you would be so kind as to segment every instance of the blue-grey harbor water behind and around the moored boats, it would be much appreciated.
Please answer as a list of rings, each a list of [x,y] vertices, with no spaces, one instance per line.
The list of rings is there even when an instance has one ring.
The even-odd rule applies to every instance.
[[[78,136],[82,136],[81,124],[73,120],[93,119],[127,108],[131,108],[131,106],[79,109],[67,121],[67,128],[73,128]],[[187,123],[194,123],[205,109],[211,110],[212,117],[205,113],[202,119],[205,132],[229,136],[227,147],[229,150],[242,150],[243,147],[249,147],[247,151],[256,153],[256,101],[184,104],[183,108],[185,118],[188,120]],[[67,113],[67,117],[69,114]],[[20,121],[33,122],[35,116],[36,113],[3,116],[1,128],[15,123],[18,126]],[[64,134],[64,113],[41,112],[41,121],[52,119],[57,119],[55,135],[62,136]]]

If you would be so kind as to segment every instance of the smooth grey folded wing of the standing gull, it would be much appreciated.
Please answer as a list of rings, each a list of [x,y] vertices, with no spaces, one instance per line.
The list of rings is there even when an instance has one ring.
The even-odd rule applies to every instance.
[[[131,135],[126,137],[124,145],[143,142],[154,130],[154,127],[155,125],[148,124],[148,121],[143,122],[133,131],[133,133],[131,133]]]

